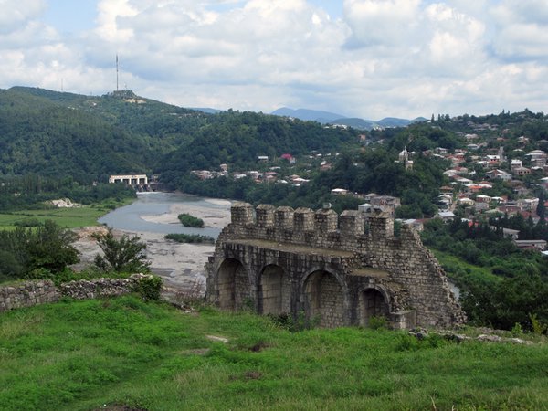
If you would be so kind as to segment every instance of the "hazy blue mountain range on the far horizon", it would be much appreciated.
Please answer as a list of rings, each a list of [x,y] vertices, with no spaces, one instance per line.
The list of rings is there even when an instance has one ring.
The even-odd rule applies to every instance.
[[[415,120],[406,120],[406,119],[397,119],[395,117],[386,117],[383,120],[373,121],[373,120],[364,120],[360,118],[349,118],[342,116],[341,114],[336,114],[330,111],[318,111],[318,110],[308,110],[308,109],[299,109],[293,110],[287,107],[282,107],[276,111],[272,111],[272,114],[277,116],[286,116],[294,117],[303,121],[318,121],[321,124],[339,124],[349,127],[353,127],[357,130],[372,130],[375,127],[380,128],[390,128],[390,127],[406,127],[407,125],[418,122],[426,121],[424,117],[417,117]]]

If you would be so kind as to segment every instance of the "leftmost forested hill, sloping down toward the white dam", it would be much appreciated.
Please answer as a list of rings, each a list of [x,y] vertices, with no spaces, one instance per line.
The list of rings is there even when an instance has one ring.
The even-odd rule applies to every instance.
[[[149,160],[146,142],[109,121],[20,90],[0,90],[0,156],[2,174],[82,181],[143,171]]]

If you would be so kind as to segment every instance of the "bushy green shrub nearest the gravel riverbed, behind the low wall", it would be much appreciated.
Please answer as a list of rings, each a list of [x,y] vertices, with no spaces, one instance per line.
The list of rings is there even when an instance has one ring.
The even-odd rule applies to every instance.
[[[146,244],[140,241],[141,237],[124,234],[117,239],[109,227],[106,233],[96,233],[93,238],[104,254],[95,256],[94,263],[99,269],[132,273],[150,271],[150,261],[144,253]]]

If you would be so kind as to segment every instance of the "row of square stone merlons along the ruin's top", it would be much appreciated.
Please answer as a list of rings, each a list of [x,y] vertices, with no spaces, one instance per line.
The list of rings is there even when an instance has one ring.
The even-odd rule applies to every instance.
[[[237,202],[232,205],[231,221],[233,232],[248,239],[310,247],[353,250],[367,238],[384,241],[394,237],[394,218],[382,211],[365,215],[359,210],[346,210],[338,215],[332,209],[314,211],[274,205],[254,208]]]

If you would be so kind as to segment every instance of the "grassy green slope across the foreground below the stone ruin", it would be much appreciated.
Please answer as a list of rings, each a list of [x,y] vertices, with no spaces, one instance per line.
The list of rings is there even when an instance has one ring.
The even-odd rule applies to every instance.
[[[409,338],[290,333],[131,296],[63,301],[0,314],[0,409],[547,409],[546,343]]]

